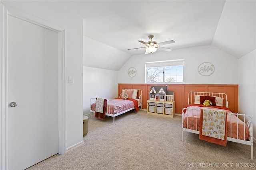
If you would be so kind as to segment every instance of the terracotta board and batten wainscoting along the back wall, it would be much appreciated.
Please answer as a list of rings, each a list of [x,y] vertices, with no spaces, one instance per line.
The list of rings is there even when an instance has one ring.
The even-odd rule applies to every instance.
[[[175,112],[181,114],[188,105],[188,92],[218,92],[226,93],[228,106],[233,113],[238,113],[238,84],[118,84],[118,95],[123,88],[142,90],[142,109],[147,109],[147,100],[151,86],[167,86],[174,91]]]

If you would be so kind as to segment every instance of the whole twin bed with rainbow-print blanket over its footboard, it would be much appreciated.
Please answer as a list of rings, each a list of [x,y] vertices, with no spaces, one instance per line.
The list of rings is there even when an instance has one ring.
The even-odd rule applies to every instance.
[[[205,100],[214,104],[202,106]],[[218,118],[223,116],[215,119],[213,115]],[[245,114],[232,113],[228,109],[227,95],[224,93],[189,92],[188,106],[182,109],[182,141],[183,131],[199,134],[201,140],[219,145],[226,146],[226,141],[250,145],[253,159],[252,118]]]

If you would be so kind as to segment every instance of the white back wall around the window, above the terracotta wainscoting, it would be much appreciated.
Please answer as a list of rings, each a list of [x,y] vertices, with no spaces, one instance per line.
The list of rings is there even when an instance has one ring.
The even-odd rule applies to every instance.
[[[119,70],[118,83],[145,83],[146,62],[176,59],[185,59],[185,84],[238,84],[238,59],[212,45],[134,55]],[[198,73],[198,66],[204,62],[214,65],[212,75],[202,76]],[[127,74],[130,67],[137,70],[132,78]]]

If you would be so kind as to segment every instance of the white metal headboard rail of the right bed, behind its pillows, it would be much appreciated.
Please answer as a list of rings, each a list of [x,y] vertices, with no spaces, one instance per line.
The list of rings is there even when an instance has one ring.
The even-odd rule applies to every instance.
[[[217,96],[223,98],[223,106],[228,107],[227,94],[217,92],[188,92],[188,104],[194,104],[196,95],[199,96]]]

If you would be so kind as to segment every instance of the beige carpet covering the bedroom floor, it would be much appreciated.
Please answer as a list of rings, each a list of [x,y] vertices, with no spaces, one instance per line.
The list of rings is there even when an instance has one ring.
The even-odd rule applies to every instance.
[[[174,118],[130,111],[105,121],[89,119],[84,144],[66,155],[54,155],[29,170],[180,170],[246,169],[256,166],[250,160],[250,146],[229,142],[227,147],[198,139],[184,132],[181,116]]]

